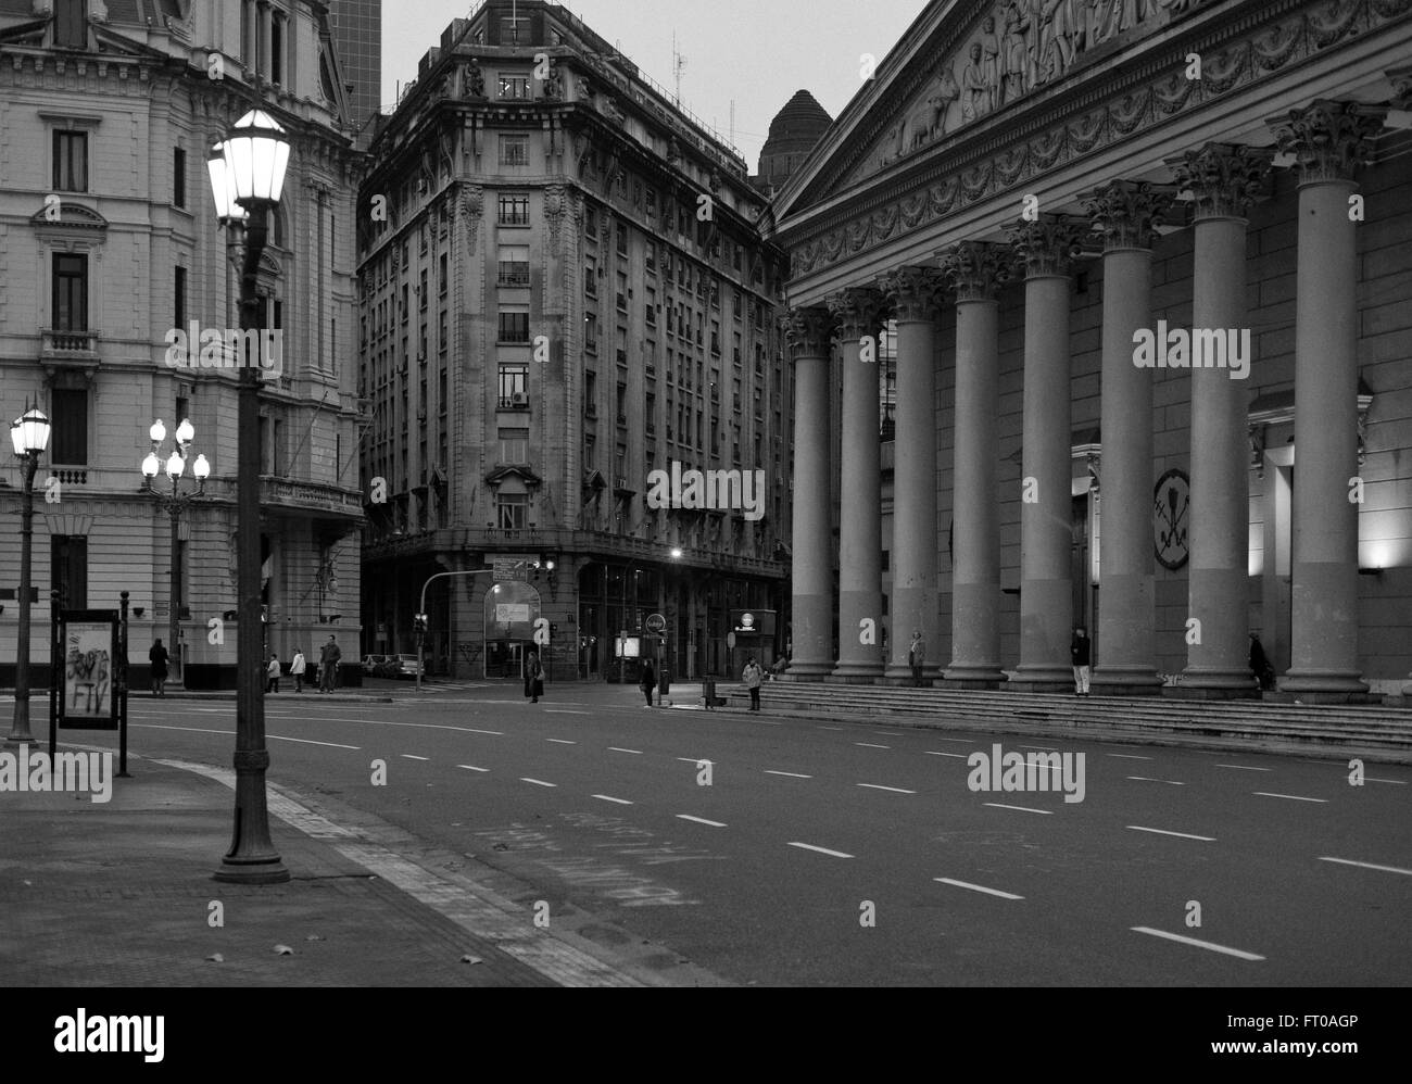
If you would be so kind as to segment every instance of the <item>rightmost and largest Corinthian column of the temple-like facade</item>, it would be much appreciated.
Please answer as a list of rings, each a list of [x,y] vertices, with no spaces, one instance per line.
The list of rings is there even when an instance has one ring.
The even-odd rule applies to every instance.
[[[1358,672],[1358,223],[1348,198],[1385,110],[1317,100],[1272,121],[1299,168],[1291,666],[1279,689],[1347,700]]]

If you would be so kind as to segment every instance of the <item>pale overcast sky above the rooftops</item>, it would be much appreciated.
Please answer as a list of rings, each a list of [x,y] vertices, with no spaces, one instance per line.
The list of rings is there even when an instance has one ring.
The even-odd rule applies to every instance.
[[[650,79],[674,90],[672,32],[686,59],[682,104],[730,136],[751,172],[770,120],[806,89],[837,117],[861,85],[858,56],[881,62],[925,0],[573,0],[563,4],[614,42]],[[441,32],[472,10],[466,0],[384,0],[383,104]]]

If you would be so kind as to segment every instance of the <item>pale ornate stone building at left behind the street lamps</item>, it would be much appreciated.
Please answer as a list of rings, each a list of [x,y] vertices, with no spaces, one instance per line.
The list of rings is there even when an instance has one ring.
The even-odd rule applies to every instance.
[[[258,102],[292,144],[260,270],[265,326],[282,336],[281,374],[261,391],[267,645],[308,654],[330,621],[356,644],[359,165],[342,88],[322,3],[0,0],[0,418],[28,398],[54,426],[37,477],[34,642],[51,587],[69,608],[116,608],[127,590],[136,659],[167,639],[176,607],[186,685],[234,682],[237,370],[172,364],[168,333],[239,326],[240,267],[206,157]],[[151,423],[184,418],[212,473],[174,541],[140,464]],[[6,524],[13,463],[0,460]],[[7,526],[0,683],[18,553]]]

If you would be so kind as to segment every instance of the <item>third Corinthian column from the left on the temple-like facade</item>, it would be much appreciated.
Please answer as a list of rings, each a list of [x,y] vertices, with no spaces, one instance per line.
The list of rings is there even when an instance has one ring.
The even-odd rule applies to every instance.
[[[940,672],[936,642],[936,268],[904,267],[882,281],[897,319],[897,433],[892,470],[892,639],[888,678],[911,678],[907,652],[921,632],[922,678]]]

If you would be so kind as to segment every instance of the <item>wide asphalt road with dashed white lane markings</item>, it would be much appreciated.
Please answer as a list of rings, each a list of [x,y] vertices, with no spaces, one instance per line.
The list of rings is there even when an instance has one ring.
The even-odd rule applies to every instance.
[[[270,778],[472,854],[534,885],[551,915],[573,903],[740,984],[1412,978],[1405,766],[1370,762],[1353,786],[1347,761],[638,697],[556,686],[531,706],[514,683],[415,704],[285,693],[267,701]],[[233,703],[131,700],[143,755],[229,766],[233,730]],[[997,741],[1084,754],[1083,800],[973,792],[967,757]]]

